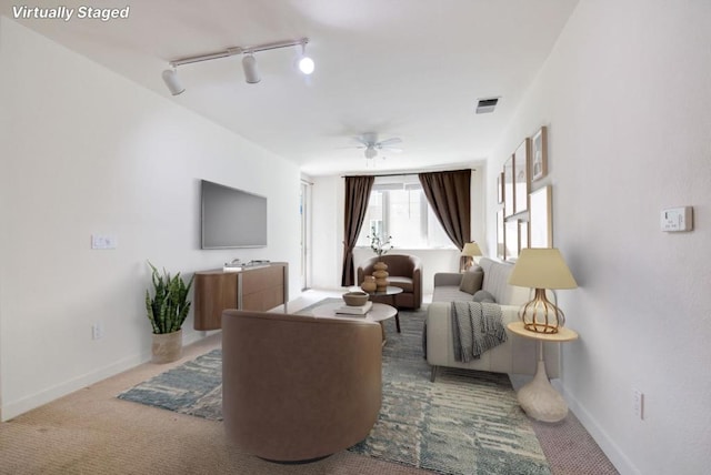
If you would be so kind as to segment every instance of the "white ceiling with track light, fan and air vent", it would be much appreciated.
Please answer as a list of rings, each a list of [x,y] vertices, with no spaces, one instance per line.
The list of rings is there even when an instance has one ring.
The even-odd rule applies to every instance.
[[[311,175],[365,169],[354,135],[402,139],[378,171],[483,162],[545,61],[578,0],[63,0],[13,6],[130,7],[126,20],[20,19]],[[308,37],[316,72],[293,69],[297,48],[257,53],[262,80],[247,84],[241,57],[178,68],[172,59]],[[500,97],[491,114],[478,99]],[[382,156],[385,160],[382,160]]]

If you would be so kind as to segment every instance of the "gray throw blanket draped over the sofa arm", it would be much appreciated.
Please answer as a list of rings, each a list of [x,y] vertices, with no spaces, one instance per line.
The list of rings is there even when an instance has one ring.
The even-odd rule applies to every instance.
[[[507,341],[501,307],[488,302],[452,302],[454,360],[468,363]]]

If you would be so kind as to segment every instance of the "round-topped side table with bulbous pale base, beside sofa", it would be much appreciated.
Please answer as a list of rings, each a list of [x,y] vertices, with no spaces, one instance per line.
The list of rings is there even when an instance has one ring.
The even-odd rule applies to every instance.
[[[538,340],[538,367],[533,380],[521,387],[518,393],[521,408],[537,421],[559,422],[568,415],[565,400],[555,391],[545,374],[543,361],[543,342],[570,342],[578,338],[578,333],[561,326],[558,333],[535,333],[525,330],[523,322],[509,323],[508,329],[517,335]]]

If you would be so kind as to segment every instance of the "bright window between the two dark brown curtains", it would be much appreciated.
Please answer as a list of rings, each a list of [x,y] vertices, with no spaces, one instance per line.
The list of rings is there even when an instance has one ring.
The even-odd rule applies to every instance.
[[[359,246],[370,246],[368,236],[373,230],[377,235],[392,236],[399,249],[454,249],[414,175],[375,178]]]

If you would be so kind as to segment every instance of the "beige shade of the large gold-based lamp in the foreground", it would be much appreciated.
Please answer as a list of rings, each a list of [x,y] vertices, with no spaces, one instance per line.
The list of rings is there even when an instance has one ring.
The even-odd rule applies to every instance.
[[[578,287],[563,256],[554,247],[521,250],[509,284],[531,289]]]

